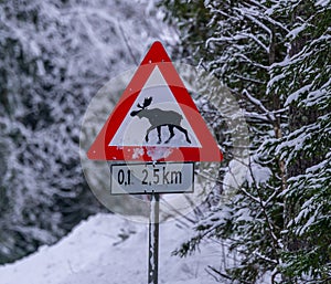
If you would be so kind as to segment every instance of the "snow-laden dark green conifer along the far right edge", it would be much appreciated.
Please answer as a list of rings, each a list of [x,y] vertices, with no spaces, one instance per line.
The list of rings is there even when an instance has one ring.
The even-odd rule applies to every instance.
[[[290,14],[287,56],[270,69],[269,92],[284,97],[286,136],[275,155],[287,168],[284,273],[297,282],[331,281],[331,3],[282,2]]]

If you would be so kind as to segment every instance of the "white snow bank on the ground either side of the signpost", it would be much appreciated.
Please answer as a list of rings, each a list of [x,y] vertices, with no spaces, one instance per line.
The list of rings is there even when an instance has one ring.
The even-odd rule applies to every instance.
[[[185,241],[189,229],[178,223],[160,225],[159,283],[211,284],[207,264],[217,266],[216,244],[201,245],[194,255],[180,259],[171,252]],[[83,221],[52,246],[13,264],[0,266],[1,284],[140,284],[147,283],[148,225],[114,214]]]

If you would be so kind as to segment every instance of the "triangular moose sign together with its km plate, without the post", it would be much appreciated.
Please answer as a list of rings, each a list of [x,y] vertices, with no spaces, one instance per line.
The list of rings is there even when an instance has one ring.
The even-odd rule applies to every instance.
[[[160,42],[147,52],[87,157],[126,162],[110,167],[115,194],[119,189],[122,193],[189,192],[193,190],[189,183],[194,161],[222,160],[216,141]]]

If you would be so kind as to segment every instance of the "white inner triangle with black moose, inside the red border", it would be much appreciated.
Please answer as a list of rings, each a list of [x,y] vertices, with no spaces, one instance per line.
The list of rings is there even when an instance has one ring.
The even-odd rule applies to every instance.
[[[156,66],[109,146],[201,148],[181,107]]]

